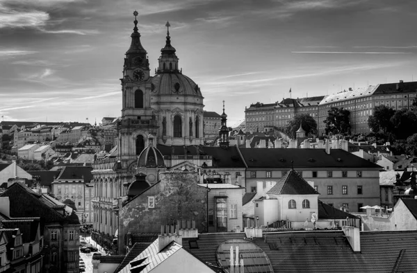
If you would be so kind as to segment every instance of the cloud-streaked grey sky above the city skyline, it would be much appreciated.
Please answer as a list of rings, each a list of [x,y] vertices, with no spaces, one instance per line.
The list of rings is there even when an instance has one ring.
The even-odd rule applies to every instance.
[[[2,119],[120,116],[134,10],[151,75],[170,21],[179,67],[228,125],[251,103],[417,80],[414,0],[0,0]]]

